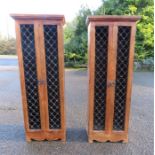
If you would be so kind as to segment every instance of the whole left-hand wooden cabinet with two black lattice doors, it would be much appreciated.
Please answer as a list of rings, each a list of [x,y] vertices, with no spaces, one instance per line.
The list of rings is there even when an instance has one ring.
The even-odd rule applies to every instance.
[[[12,14],[27,141],[66,139],[61,15]]]

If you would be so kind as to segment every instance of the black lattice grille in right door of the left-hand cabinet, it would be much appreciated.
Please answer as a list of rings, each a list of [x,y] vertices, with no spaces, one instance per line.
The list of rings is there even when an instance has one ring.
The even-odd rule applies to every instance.
[[[44,25],[44,37],[48,85],[49,128],[59,129],[61,127],[61,120],[59,99],[57,26]]]

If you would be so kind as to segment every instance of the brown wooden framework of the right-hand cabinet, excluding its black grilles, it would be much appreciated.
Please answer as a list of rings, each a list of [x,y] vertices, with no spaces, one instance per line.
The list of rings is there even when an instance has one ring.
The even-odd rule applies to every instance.
[[[87,18],[89,27],[88,34],[88,52],[89,52],[89,95],[88,95],[88,139],[89,142],[97,140],[100,142],[106,141],[128,141],[128,126],[129,126],[129,112],[131,102],[131,88],[133,76],[133,59],[134,59],[134,43],[136,21],[139,16],[90,16]],[[93,27],[91,26],[93,25]],[[95,26],[109,26],[109,44],[108,44],[108,64],[107,64],[107,96],[106,96],[106,121],[105,130],[93,130],[93,116],[94,116],[94,79],[95,79]],[[113,130],[114,117],[114,100],[115,100],[115,86],[108,87],[109,81],[116,80],[116,60],[117,60],[117,36],[118,26],[130,26],[130,50],[129,50],[129,64],[128,64],[128,81],[127,81],[127,96],[125,109],[125,129],[122,131]],[[93,32],[93,33],[92,33]]]

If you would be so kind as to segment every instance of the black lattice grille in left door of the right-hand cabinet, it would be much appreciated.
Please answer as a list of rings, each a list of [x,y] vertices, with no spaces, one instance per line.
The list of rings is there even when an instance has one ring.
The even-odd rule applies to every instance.
[[[95,33],[94,130],[105,128],[108,27],[97,26]]]

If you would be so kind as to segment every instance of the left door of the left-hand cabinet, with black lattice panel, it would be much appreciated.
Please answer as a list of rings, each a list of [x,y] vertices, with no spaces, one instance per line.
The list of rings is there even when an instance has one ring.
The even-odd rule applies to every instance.
[[[36,62],[35,25],[33,22],[17,25],[17,46],[23,109],[26,130],[41,129],[41,115]]]

